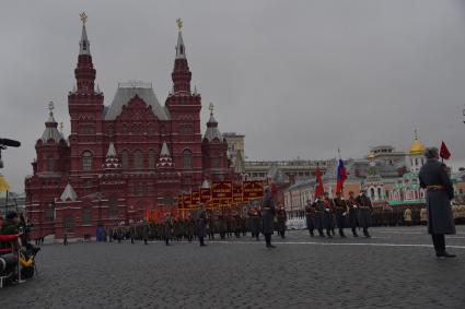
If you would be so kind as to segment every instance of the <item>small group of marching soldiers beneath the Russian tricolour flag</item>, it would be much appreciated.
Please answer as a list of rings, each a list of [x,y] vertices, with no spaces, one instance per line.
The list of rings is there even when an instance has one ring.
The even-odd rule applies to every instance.
[[[365,191],[354,198],[354,193],[349,192],[349,199],[344,199],[341,193],[337,193],[335,199],[330,199],[325,192],[316,198],[315,202],[307,201],[305,207],[306,227],[310,236],[314,237],[314,230],[321,237],[328,238],[335,236],[335,227],[338,227],[339,236],[346,238],[345,228],[350,226],[353,237],[359,237],[358,228],[362,228],[363,235],[371,237],[368,228],[371,226],[371,213],[373,206]]]

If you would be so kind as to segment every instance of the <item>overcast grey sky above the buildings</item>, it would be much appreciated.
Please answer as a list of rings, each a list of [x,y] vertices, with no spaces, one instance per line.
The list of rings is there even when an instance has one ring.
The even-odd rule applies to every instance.
[[[108,105],[117,83],[171,88],[175,20],[193,84],[221,131],[246,135],[249,159],[361,157],[370,146],[444,140],[465,164],[463,1],[2,1],[0,135],[15,191],[32,174],[47,104],[69,132],[67,93],[88,35]]]

